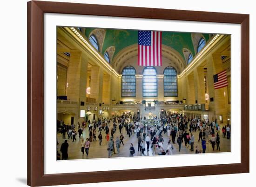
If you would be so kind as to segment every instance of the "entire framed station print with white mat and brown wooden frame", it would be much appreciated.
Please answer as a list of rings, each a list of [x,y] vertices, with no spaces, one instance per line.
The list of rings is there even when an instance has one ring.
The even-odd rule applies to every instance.
[[[28,185],[249,172],[249,15],[30,1],[27,34]]]

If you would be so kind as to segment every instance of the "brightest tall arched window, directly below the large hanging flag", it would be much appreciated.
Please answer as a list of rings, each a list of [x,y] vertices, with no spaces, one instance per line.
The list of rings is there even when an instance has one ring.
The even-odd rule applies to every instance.
[[[146,67],[143,71],[143,97],[157,97],[157,77],[154,67]]]

